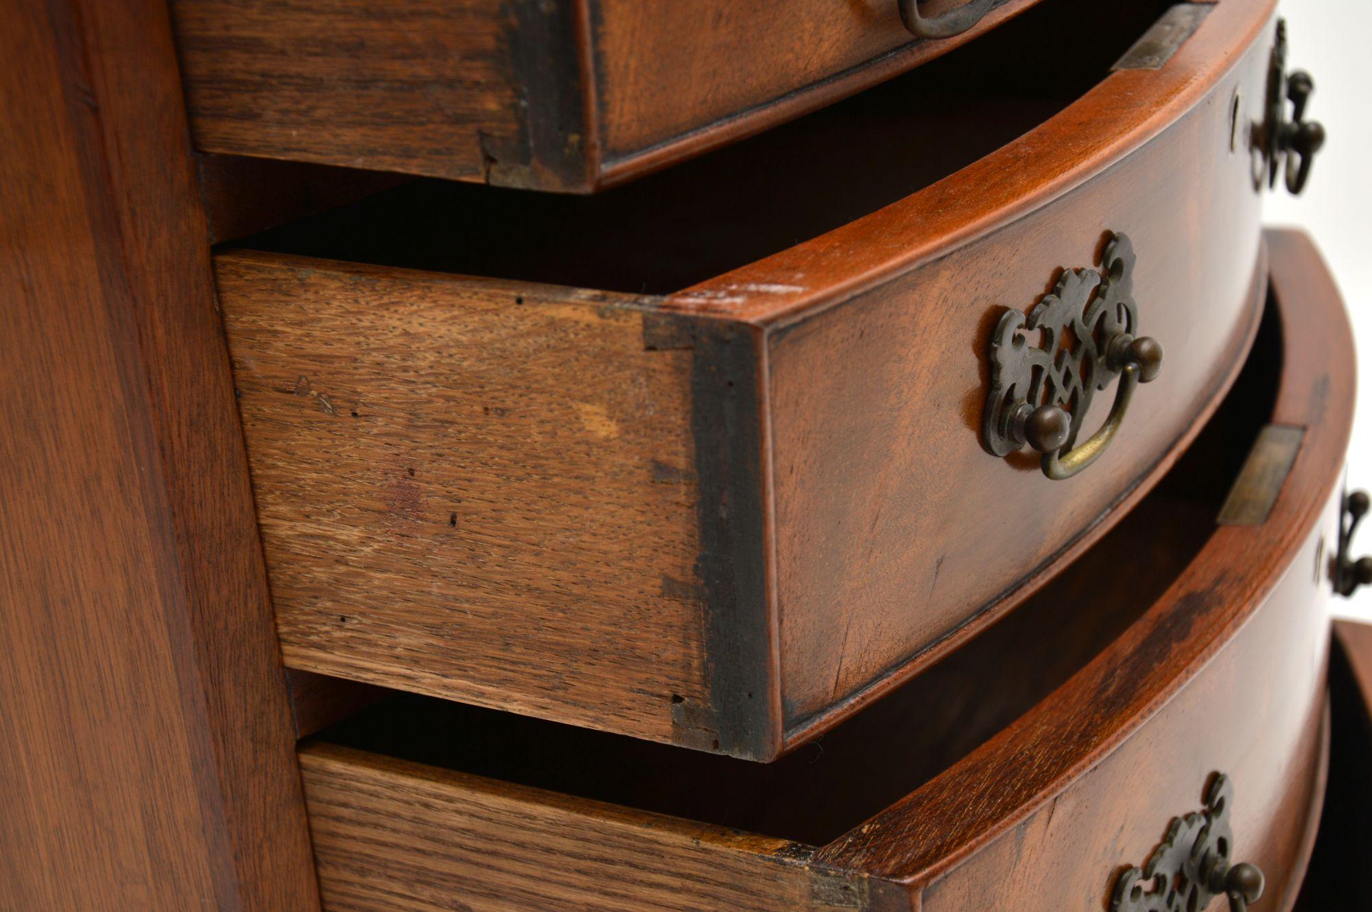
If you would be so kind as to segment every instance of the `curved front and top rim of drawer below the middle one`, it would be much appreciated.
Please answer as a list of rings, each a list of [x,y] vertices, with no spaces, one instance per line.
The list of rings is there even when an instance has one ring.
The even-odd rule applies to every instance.
[[[925,909],[1098,909],[1224,773],[1229,860],[1265,872],[1255,908],[1294,902],[1323,795],[1325,606],[1353,352],[1314,248],[1301,235],[1268,237],[1286,368],[1266,425],[1276,431],[1233,488],[1262,509],[1221,524],[1162,599],[1032,713],[822,859],[901,882]],[[1246,484],[1273,464],[1290,475]],[[1227,505],[1224,516],[1242,514]],[[1118,905],[1132,908],[1151,907]]]

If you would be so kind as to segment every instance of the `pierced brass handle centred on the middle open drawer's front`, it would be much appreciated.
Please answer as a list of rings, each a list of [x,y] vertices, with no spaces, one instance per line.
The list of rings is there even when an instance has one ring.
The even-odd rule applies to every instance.
[[[992,455],[1025,444],[1043,454],[1043,473],[1070,479],[1100,458],[1120,431],[1133,391],[1162,369],[1162,346],[1136,336],[1133,244],[1114,235],[1102,273],[1067,269],[1028,318],[1002,315],[991,336],[991,388],[982,413],[982,437]],[[1030,344],[1028,333],[1041,333]],[[1091,398],[1120,376],[1104,425],[1076,446]]]

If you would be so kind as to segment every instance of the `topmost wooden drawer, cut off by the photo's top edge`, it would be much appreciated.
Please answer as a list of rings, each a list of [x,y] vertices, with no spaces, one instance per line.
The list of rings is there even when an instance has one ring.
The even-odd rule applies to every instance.
[[[174,0],[207,152],[587,192],[874,85],[951,40],[897,0]],[[947,3],[943,5],[958,5]]]

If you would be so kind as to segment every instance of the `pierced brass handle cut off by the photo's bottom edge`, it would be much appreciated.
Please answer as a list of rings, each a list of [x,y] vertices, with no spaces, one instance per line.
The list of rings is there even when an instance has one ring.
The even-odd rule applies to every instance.
[[[1229,863],[1232,804],[1229,778],[1216,773],[1205,809],[1173,820],[1147,864],[1120,874],[1110,912],[1203,909],[1220,894],[1229,898],[1229,912],[1247,912],[1262,897],[1264,876],[1257,865]]]

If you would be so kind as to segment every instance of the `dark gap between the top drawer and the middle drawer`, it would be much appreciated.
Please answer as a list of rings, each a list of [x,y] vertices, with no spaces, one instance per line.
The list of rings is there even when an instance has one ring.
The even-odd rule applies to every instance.
[[[1050,0],[881,86],[595,196],[417,180],[235,245],[632,293],[679,291],[996,151],[1106,78],[1169,5]]]

